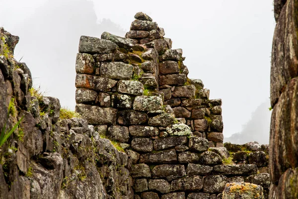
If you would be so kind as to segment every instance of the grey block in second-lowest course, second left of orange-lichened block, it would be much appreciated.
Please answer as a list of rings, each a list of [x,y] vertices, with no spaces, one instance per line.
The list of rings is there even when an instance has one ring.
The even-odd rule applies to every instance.
[[[173,180],[171,183],[171,191],[198,191],[203,188],[204,180],[201,176],[185,177]]]

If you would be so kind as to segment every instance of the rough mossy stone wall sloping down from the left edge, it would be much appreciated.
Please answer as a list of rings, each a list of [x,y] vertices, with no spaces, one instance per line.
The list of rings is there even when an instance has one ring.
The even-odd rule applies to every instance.
[[[59,100],[32,89],[13,59],[18,37],[0,29],[0,38],[0,129],[23,116],[0,147],[0,199],[133,199],[128,156],[86,119],[61,119]]]

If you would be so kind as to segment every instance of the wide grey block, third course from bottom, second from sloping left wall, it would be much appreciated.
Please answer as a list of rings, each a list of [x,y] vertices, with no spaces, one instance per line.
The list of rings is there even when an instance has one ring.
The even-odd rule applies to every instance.
[[[157,165],[152,169],[152,178],[166,178],[172,181],[186,175],[184,165]]]

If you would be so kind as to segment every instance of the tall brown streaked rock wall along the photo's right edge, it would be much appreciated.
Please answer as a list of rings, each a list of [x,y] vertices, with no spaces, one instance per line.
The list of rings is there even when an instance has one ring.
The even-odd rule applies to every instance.
[[[271,199],[298,198],[298,0],[275,0],[271,59]]]

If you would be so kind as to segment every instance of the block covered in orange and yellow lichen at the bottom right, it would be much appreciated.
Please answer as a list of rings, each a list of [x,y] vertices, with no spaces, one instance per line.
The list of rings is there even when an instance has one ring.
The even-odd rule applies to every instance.
[[[250,183],[227,183],[223,199],[263,199],[263,188]]]

